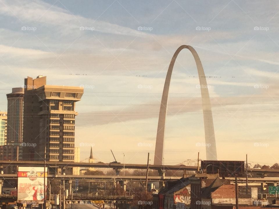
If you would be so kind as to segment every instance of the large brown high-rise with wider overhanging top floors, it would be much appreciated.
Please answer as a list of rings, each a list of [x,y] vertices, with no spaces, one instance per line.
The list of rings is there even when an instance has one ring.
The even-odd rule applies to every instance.
[[[74,162],[75,103],[83,88],[47,85],[47,78],[24,81],[23,142],[25,160]]]

